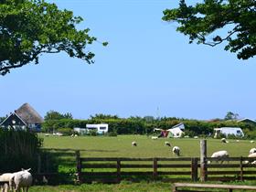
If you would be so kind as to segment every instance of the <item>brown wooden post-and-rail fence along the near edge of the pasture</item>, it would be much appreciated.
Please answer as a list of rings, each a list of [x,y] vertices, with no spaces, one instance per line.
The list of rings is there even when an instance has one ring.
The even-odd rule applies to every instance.
[[[256,179],[256,165],[245,164],[244,161],[256,160],[249,157],[229,157],[229,163],[212,163],[218,158],[208,157],[200,164],[198,157],[179,158],[112,158],[112,157],[80,157],[76,152],[77,180],[80,183],[98,181],[120,182],[122,178],[142,176],[157,179],[164,176],[166,180],[244,180]],[[201,167],[205,165],[206,167]],[[252,167],[252,168],[251,168]],[[227,169],[232,170],[227,170]],[[247,170],[251,168],[250,170]],[[205,171],[201,171],[201,170]],[[199,170],[199,171],[198,171]]]

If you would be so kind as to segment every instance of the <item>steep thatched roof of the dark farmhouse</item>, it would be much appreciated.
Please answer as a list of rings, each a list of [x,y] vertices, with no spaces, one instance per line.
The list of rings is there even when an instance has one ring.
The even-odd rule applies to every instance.
[[[26,123],[43,123],[43,118],[28,103],[24,103],[16,114]]]

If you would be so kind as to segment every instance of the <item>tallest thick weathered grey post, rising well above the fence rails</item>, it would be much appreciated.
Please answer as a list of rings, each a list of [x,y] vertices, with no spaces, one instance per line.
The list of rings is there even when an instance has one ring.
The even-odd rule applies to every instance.
[[[207,140],[200,140],[200,179],[207,181]]]

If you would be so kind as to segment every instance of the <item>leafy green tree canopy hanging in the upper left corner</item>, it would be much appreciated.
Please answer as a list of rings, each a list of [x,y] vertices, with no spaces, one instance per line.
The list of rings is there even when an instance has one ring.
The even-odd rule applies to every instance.
[[[90,64],[94,54],[85,48],[96,38],[88,34],[89,28],[76,29],[81,21],[44,0],[0,0],[0,74],[37,64],[43,53],[64,51]]]

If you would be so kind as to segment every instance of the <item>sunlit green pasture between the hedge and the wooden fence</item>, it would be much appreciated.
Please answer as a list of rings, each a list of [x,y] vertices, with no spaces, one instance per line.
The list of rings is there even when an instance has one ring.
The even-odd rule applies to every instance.
[[[181,156],[197,157],[200,154],[199,139],[173,139],[159,138],[152,140],[145,135],[118,135],[107,136],[44,136],[44,148],[71,148],[86,150],[82,156],[86,157],[174,157],[171,153],[172,147],[165,146],[168,141],[172,146],[179,146]],[[137,146],[133,147],[132,142]],[[208,156],[219,150],[227,150],[229,156],[247,156],[249,150],[256,147],[248,140],[229,140],[229,144],[223,144],[219,139],[208,139]]]

